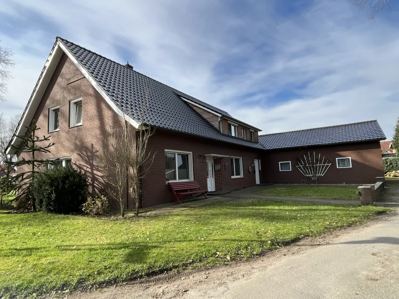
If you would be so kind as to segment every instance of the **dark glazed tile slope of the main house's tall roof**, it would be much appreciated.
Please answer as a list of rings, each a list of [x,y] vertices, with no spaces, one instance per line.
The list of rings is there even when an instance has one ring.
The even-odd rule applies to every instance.
[[[147,96],[148,108],[144,119],[146,124],[241,146],[264,149],[258,143],[221,134],[183,101],[179,95],[219,114],[228,115],[227,112],[203,103],[68,40],[59,37],[58,39],[96,80],[111,100],[131,117],[141,119],[141,107]]]

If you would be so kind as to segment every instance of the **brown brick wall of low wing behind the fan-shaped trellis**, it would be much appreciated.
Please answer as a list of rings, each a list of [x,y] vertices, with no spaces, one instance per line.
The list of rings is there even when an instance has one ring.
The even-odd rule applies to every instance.
[[[280,149],[267,151],[262,159],[262,173],[265,182],[301,183],[305,176],[295,166],[296,157],[316,152],[332,158],[332,164],[321,183],[327,184],[371,184],[377,176],[384,176],[379,142],[358,143],[337,146],[312,147],[306,149]],[[351,157],[352,168],[337,168],[336,158]],[[291,171],[279,171],[279,161],[291,161]]]

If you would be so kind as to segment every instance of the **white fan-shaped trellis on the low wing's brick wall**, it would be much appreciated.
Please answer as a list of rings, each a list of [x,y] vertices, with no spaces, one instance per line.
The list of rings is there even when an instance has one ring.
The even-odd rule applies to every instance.
[[[330,165],[331,160],[329,158],[323,156],[321,159],[320,153],[319,156],[316,156],[315,152],[313,152],[313,156],[310,156],[310,152],[308,151],[308,157],[305,154],[303,158],[298,157],[296,167],[304,176],[317,181],[327,172]]]

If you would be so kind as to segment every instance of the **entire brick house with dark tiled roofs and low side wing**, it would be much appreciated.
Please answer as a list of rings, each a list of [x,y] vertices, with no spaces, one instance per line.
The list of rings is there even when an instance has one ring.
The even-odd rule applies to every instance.
[[[143,103],[144,123],[155,129],[148,143],[154,160],[142,180],[143,207],[169,202],[169,181],[196,180],[209,191],[301,183],[305,176],[294,159],[308,149],[337,159],[324,183],[371,183],[384,173],[379,141],[385,135],[377,121],[259,136],[260,129],[223,110],[60,37],[10,144],[35,120],[38,135],[50,135],[55,143],[41,158],[73,164],[87,173],[92,191],[101,193],[103,136],[124,121],[139,128]]]

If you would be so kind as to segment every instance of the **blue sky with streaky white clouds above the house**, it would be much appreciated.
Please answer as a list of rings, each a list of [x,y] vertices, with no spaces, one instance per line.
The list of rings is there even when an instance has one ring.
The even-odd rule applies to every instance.
[[[57,35],[228,111],[263,134],[399,116],[399,5],[352,0],[0,0],[20,113]],[[391,1],[392,2],[392,1]]]

